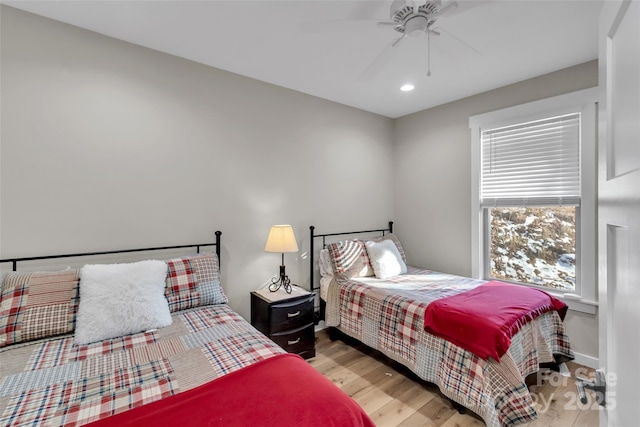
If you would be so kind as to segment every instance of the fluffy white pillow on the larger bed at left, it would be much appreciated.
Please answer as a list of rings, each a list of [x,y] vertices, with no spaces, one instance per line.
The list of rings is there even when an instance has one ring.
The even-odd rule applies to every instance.
[[[166,277],[164,261],[82,267],[74,342],[88,344],[169,326]]]

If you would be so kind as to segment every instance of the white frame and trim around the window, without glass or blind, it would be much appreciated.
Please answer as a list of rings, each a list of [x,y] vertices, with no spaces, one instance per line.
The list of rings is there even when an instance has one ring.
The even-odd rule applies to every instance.
[[[471,130],[471,267],[474,278],[491,280],[489,211],[480,205],[482,129],[581,113],[581,196],[576,209],[576,289],[573,292],[542,288],[564,300],[571,309],[595,314],[597,287],[597,88],[585,89],[505,108],[469,118]],[[523,284],[524,286],[529,286]],[[533,288],[541,288],[531,285]]]

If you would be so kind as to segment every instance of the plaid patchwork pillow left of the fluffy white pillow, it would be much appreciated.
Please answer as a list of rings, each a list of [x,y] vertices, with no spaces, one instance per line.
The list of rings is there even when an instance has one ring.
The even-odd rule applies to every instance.
[[[0,347],[73,332],[78,269],[11,272],[0,293]]]

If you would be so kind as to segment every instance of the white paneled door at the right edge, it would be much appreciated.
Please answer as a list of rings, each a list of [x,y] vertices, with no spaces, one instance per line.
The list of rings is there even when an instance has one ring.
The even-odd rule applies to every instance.
[[[640,0],[600,16],[598,254],[602,426],[640,423]]]

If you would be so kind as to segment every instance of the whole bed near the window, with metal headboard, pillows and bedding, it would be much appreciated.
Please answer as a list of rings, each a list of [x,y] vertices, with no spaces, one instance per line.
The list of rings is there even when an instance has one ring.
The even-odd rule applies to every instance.
[[[322,239],[319,251],[316,239]],[[437,385],[490,427],[536,419],[526,377],[573,359],[562,323],[564,303],[527,287],[407,266],[392,222],[375,230],[327,234],[311,226],[310,240],[310,287],[320,295],[319,319]],[[389,253],[393,262],[381,262]],[[494,307],[501,294],[527,303],[502,307],[496,301]],[[470,312],[462,312],[466,306]],[[494,312],[517,316],[510,329],[494,328],[486,324]]]

